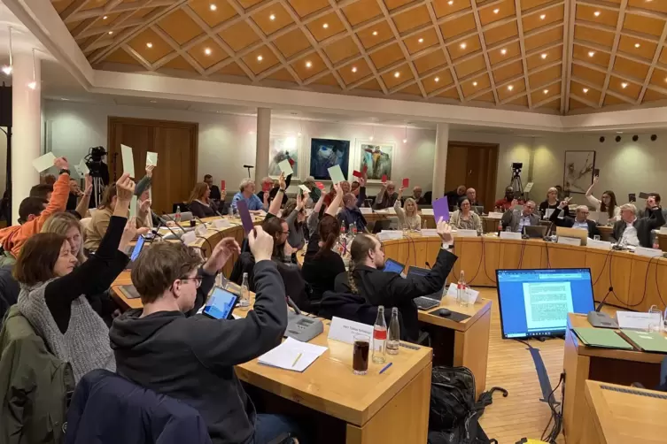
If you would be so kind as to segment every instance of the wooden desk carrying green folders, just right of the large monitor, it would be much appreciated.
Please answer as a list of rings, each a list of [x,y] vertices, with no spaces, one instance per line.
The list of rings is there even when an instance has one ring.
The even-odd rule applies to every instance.
[[[578,336],[571,329],[590,326],[586,315],[573,313],[568,315],[562,363],[565,371],[563,425],[565,440],[568,444],[589,442],[584,440],[586,433],[584,423],[581,421],[586,414],[586,379],[620,384],[625,387],[630,386],[632,382],[640,382],[644,387],[655,387],[659,383],[660,364],[665,357],[638,349],[588,347],[578,340]],[[667,440],[667,435],[663,435],[663,438]]]

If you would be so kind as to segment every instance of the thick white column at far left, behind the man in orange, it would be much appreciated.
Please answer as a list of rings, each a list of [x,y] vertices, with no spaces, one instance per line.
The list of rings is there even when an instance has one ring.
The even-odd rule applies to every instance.
[[[13,54],[12,69],[12,222],[18,223],[19,205],[39,183],[33,160],[42,153],[42,82],[39,58]],[[35,66],[33,71],[33,66]],[[35,73],[35,77],[33,77]],[[29,85],[35,81],[35,89]]]

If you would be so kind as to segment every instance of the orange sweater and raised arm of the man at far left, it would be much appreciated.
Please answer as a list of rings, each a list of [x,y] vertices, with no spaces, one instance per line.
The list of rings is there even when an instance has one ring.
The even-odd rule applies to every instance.
[[[6,253],[18,257],[23,244],[36,233],[42,231],[42,226],[51,214],[65,211],[69,195],[69,164],[65,157],[58,157],[53,161],[60,170],[60,176],[53,184],[53,193],[46,208],[39,214],[30,214],[19,226],[8,226],[0,230],[0,244]],[[34,199],[34,197],[27,197]]]

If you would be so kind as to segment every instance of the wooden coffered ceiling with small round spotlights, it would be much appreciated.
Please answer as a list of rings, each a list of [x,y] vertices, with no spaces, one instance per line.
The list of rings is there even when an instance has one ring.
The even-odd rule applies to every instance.
[[[52,4],[98,69],[562,114],[667,103],[667,0]]]

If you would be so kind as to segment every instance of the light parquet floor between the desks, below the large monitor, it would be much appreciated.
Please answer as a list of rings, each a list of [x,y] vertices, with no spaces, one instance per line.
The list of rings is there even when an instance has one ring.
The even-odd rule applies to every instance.
[[[481,297],[492,300],[491,338],[486,371],[486,389],[503,387],[509,395],[503,398],[498,392],[493,394],[493,403],[486,408],[480,424],[489,438],[500,444],[515,444],[522,438],[539,440],[551,410],[546,402],[540,402],[542,392],[535,371],[535,364],[528,348],[519,341],[503,340],[500,335],[500,312],[495,288],[477,288]],[[545,342],[530,341],[539,348],[552,388],[558,384],[562,372],[564,341],[553,339]],[[560,388],[556,399],[561,401]],[[562,433],[558,440],[564,443]]]

